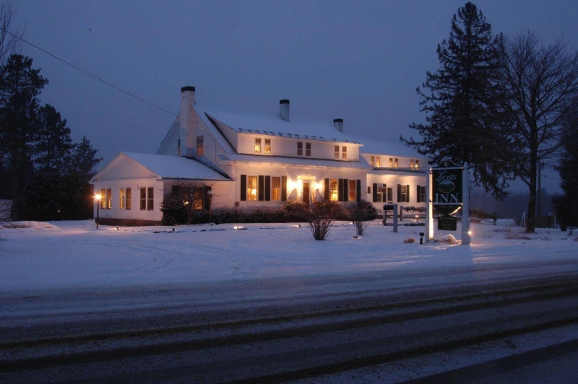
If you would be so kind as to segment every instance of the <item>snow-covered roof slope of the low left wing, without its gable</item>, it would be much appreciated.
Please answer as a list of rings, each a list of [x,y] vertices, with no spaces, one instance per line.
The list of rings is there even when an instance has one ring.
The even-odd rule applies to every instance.
[[[176,178],[187,180],[231,180],[216,170],[181,156],[151,155],[136,152],[121,152],[161,178]]]

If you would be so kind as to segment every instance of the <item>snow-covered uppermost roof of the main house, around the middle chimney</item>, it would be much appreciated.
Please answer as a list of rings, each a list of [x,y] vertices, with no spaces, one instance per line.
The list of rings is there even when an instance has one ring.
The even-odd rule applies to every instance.
[[[206,103],[195,103],[192,107],[199,115],[207,113],[236,132],[360,144],[360,141],[339,132],[331,120],[291,115],[290,121],[284,121],[278,111],[231,112]]]

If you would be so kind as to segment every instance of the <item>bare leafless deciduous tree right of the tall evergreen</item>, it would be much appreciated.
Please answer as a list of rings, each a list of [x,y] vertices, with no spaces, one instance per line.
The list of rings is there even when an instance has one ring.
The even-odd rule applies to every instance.
[[[507,115],[504,140],[512,171],[529,188],[527,232],[535,229],[536,172],[551,160],[566,135],[566,116],[578,94],[578,53],[558,40],[542,46],[533,32],[506,43],[502,99]]]

